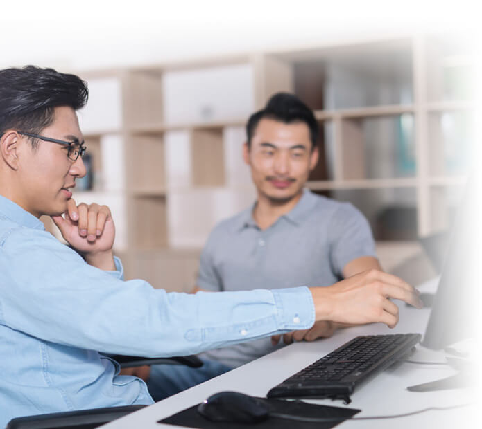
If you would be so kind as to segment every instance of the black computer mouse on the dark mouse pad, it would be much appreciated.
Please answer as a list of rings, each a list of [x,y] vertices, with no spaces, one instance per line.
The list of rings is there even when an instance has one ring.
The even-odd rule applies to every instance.
[[[198,412],[212,421],[255,423],[269,417],[268,405],[262,399],[239,392],[219,392],[198,405]]]

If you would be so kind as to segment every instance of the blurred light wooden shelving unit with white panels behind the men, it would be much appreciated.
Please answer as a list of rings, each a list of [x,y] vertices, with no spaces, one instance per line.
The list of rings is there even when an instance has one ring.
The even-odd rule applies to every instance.
[[[473,120],[470,84],[457,80],[473,67],[453,39],[407,35],[77,72],[90,87],[80,125],[94,171],[80,197],[115,200],[126,277],[189,290],[209,230],[255,197],[241,161],[248,116],[289,91],[320,123],[308,187],[359,206],[378,240],[429,235],[447,227],[465,181],[470,157],[454,156],[452,135]],[[392,234],[390,213],[412,223]]]

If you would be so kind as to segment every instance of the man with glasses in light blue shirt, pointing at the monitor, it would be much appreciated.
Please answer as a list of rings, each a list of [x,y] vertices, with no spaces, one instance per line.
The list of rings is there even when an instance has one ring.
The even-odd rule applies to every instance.
[[[119,375],[99,352],[192,354],[328,319],[395,326],[387,298],[420,305],[412,286],[379,271],[326,288],[196,295],[124,282],[109,208],[72,199],[85,175],[76,110],[86,101],[75,75],[0,71],[0,427],[13,417],[153,402],[144,381]],[[74,250],[44,230],[42,215]]]

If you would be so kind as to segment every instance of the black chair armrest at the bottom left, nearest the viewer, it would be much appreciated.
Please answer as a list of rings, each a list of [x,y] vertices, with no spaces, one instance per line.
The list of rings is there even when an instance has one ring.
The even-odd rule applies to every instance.
[[[144,408],[146,405],[94,408],[92,410],[53,412],[37,416],[17,417],[10,420],[6,429],[51,429],[51,428],[97,428],[112,420]]]

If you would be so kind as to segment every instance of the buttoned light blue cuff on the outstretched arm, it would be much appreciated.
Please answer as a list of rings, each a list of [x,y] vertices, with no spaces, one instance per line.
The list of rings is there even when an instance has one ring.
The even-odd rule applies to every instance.
[[[309,329],[315,322],[313,295],[307,286],[273,289],[280,330]]]

